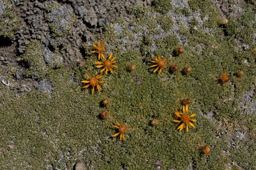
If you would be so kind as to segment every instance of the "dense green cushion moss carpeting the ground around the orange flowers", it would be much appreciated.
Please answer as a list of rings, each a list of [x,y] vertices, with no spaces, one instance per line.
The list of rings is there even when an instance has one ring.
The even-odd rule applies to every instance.
[[[201,17],[209,19],[200,27],[195,18],[189,28],[180,26],[179,35],[157,37],[161,28],[156,25],[163,25],[165,31],[173,27],[172,18],[168,22],[157,13],[161,10],[157,6],[131,9],[138,14],[132,31],[122,21],[116,22],[122,27],[120,34],[107,27],[99,39],[108,43],[118,69],[104,76],[101,93],[81,90],[80,83],[84,71],[99,72],[94,67],[96,55],[86,55],[82,68],[47,69],[44,75],[54,88],[51,93],[32,90],[15,94],[0,84],[1,169],[72,169],[79,160],[86,162],[88,169],[154,169],[156,160],[162,169],[229,169],[233,163],[256,169],[256,114],[245,115],[239,109],[244,92],[255,87],[255,46],[250,36],[255,24],[254,29],[248,25],[255,18],[255,8],[244,6],[244,19],[228,18],[224,27],[218,25],[218,13],[208,1],[190,1],[189,8],[200,10]],[[192,15],[186,9],[176,9],[182,15],[184,11]],[[146,34],[141,34],[145,31],[141,26],[147,28]],[[211,29],[210,33],[204,27]],[[237,32],[237,27],[242,30]],[[186,45],[180,43],[180,35],[187,39]],[[238,48],[237,39],[250,48]],[[85,46],[90,52],[92,46]],[[171,57],[177,46],[183,46],[184,53]],[[149,60],[156,54],[165,55],[179,71],[164,69],[162,74],[153,74]],[[136,69],[130,73],[127,67],[132,64]],[[193,71],[184,75],[181,71],[186,66]],[[242,78],[235,76],[239,70],[244,71]],[[219,83],[219,75],[225,71],[230,81]],[[106,97],[111,104],[102,108],[100,101]],[[191,99],[189,110],[197,119],[196,128],[188,133],[178,132],[172,121],[185,98]],[[104,110],[109,111],[109,118],[101,120],[98,115]],[[159,125],[151,127],[152,118],[159,120]],[[111,138],[115,120],[129,127],[125,142]],[[8,150],[8,145],[15,148]],[[211,154],[200,154],[205,145],[211,146]]]

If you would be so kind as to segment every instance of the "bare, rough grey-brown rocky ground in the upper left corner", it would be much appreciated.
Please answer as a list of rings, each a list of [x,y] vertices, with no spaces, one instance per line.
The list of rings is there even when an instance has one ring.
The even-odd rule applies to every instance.
[[[26,63],[21,58],[29,42],[41,42],[46,64],[49,63],[49,56],[58,53],[58,64],[72,67],[86,55],[83,43],[92,44],[104,32],[105,26],[117,19],[129,22],[134,15],[128,13],[127,8],[151,4],[150,1],[4,2],[1,1],[1,12],[11,9],[19,21],[15,23],[17,28],[12,30],[13,37],[1,36],[1,68],[12,66],[15,79],[18,80],[13,88],[21,91],[37,86],[37,82],[25,80],[22,76]]]

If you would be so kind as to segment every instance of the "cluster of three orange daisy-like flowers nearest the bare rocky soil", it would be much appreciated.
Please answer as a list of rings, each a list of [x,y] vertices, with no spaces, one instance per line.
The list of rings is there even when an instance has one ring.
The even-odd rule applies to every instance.
[[[82,88],[88,88],[88,87],[92,87],[92,94],[94,94],[94,90],[95,90],[95,87],[97,87],[97,90],[100,92],[102,89],[100,87],[100,83],[103,83],[104,81],[100,81],[99,79],[102,78],[102,72],[105,71],[105,74],[108,74],[108,72],[110,71],[111,73],[113,73],[113,68],[117,68],[118,66],[116,66],[116,60],[115,60],[115,57],[112,58],[113,56],[113,53],[111,53],[109,55],[109,57],[105,57],[104,53],[106,51],[106,44],[100,44],[100,41],[98,43],[98,46],[93,43],[93,46],[96,48],[96,50],[92,51],[92,53],[98,53],[98,59],[99,61],[95,62],[95,67],[97,68],[102,68],[100,70],[100,73],[95,76],[95,77],[91,77],[89,76],[89,74],[87,73],[84,73],[90,80],[83,80],[81,81],[82,83],[88,83],[87,85],[84,85]],[[103,59],[103,60],[100,60],[100,59]]]

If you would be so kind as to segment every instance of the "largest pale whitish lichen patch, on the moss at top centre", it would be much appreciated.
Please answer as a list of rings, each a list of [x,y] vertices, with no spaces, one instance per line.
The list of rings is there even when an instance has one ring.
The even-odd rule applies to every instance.
[[[209,21],[209,16],[205,15],[202,17],[202,11],[191,10],[188,1],[173,0],[172,5],[173,9],[166,13],[166,15],[156,11],[146,10],[145,15],[129,25],[122,22],[111,24],[110,29],[113,30],[115,36],[120,37],[118,39],[118,46],[122,46],[121,52],[124,53],[128,50],[140,49],[141,39],[145,38],[145,36],[150,41],[148,52],[154,53],[159,49],[157,39],[176,36],[179,44],[186,46],[189,40],[182,32],[189,31],[189,29],[200,29],[200,31],[206,34],[211,34],[211,32],[217,29],[206,27],[204,23]],[[186,8],[189,14],[180,13],[179,10],[182,8]],[[164,25],[160,22],[161,18],[168,18],[164,22],[172,22],[168,29],[164,29]],[[193,24],[193,22],[196,22],[196,24]]]

